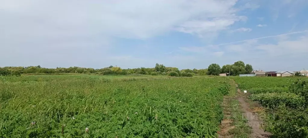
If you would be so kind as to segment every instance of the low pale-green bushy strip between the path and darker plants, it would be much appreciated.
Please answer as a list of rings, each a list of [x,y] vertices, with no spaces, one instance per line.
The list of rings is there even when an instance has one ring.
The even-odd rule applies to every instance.
[[[286,92],[253,94],[249,98],[272,109],[279,106],[287,106],[296,109],[305,105],[305,99],[302,96]]]

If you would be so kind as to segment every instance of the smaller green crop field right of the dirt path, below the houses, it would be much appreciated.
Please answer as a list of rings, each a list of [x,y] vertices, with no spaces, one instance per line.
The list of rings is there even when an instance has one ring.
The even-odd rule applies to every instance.
[[[249,98],[265,108],[263,127],[274,138],[308,137],[308,79],[232,77]],[[263,113],[262,113],[263,114]]]

